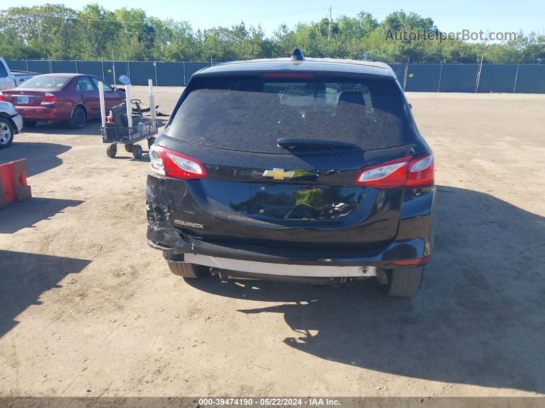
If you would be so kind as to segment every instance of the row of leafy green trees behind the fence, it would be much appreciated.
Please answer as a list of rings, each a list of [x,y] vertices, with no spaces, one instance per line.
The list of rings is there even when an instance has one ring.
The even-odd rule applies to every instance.
[[[433,20],[403,10],[381,22],[361,11],[330,22],[280,25],[270,36],[240,22],[232,27],[193,31],[187,21],[156,19],[144,10],[108,10],[99,4],[74,10],[58,4],[0,11],[0,55],[4,58],[205,60],[288,57],[295,47],[311,57],[384,62],[490,63],[545,62],[545,35],[519,33],[516,39],[485,46],[459,40],[386,39],[389,30],[435,31]]]

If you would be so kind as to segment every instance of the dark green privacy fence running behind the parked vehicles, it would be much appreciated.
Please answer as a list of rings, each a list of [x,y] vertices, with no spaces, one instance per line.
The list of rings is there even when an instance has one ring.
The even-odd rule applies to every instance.
[[[60,61],[10,59],[12,70],[41,74],[74,72],[115,83],[119,75],[134,85],[183,87],[208,62]],[[545,94],[545,64],[390,64],[409,92],[508,92]]]

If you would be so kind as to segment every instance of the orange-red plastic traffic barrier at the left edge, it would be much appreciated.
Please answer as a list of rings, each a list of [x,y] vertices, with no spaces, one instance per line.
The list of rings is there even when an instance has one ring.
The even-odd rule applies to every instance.
[[[27,186],[27,159],[15,160],[0,165],[0,208],[32,197]]]

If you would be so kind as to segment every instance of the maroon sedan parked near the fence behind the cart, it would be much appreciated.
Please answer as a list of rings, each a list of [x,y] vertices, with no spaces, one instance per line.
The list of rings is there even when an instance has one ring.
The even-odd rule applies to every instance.
[[[81,129],[87,119],[100,118],[100,78],[83,74],[38,75],[19,87],[0,92],[0,101],[11,102],[23,117],[25,126],[38,120],[68,121]],[[125,92],[104,83],[106,112],[125,100]]]

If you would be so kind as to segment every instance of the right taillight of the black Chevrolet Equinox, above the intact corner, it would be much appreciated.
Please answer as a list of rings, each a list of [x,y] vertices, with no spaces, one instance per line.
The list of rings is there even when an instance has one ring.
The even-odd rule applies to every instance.
[[[375,188],[414,188],[433,185],[433,155],[407,156],[365,168],[356,184]]]

